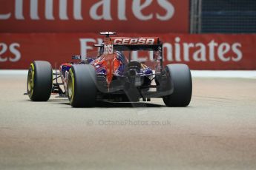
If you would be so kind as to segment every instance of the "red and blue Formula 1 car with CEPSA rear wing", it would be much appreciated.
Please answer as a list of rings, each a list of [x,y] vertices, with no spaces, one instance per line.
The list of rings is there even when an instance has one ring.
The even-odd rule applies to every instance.
[[[73,60],[53,69],[47,61],[33,61],[27,75],[31,101],[47,101],[52,93],[68,97],[73,107],[95,106],[97,101],[150,101],[163,98],[166,106],[188,106],[191,101],[191,72],[185,64],[163,67],[160,38],[112,37],[105,35],[94,58],[73,55]],[[132,52],[151,52],[151,62],[134,61]],[[62,82],[59,83],[58,79]]]

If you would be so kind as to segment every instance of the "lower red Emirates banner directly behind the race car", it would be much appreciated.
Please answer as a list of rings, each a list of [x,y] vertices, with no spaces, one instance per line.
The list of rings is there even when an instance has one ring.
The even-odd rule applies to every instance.
[[[191,69],[256,69],[256,34],[131,34],[163,42],[164,64],[183,63]],[[71,61],[72,55],[96,57],[93,44],[102,42],[93,33],[0,33],[0,69],[27,69],[32,61],[53,65]],[[153,61],[151,52],[132,52],[134,61]]]

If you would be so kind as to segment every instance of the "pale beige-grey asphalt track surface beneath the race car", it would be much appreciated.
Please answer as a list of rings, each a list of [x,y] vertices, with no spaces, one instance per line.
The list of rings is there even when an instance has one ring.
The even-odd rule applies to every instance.
[[[256,79],[194,78],[186,108],[31,102],[0,75],[0,169],[256,169]]]

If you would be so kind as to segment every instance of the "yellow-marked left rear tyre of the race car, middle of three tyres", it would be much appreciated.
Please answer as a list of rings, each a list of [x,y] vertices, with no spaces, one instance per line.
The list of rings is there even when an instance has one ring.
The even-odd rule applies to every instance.
[[[68,99],[73,107],[91,107],[96,103],[96,72],[93,66],[77,64],[68,74]]]

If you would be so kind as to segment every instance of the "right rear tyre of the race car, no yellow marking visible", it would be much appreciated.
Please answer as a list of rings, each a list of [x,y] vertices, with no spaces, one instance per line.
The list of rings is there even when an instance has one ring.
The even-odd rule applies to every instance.
[[[192,95],[192,79],[186,64],[168,64],[166,67],[168,81],[174,87],[171,95],[163,97],[166,106],[188,106]]]

